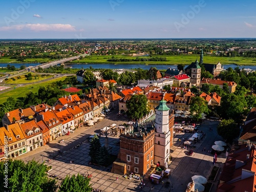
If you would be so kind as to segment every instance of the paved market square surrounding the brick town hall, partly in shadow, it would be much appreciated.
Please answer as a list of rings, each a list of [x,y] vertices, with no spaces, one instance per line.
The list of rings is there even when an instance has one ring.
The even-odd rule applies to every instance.
[[[120,122],[120,123],[119,123]],[[185,191],[187,183],[191,181],[193,175],[202,175],[206,177],[212,167],[213,155],[208,153],[208,150],[211,150],[211,145],[216,140],[221,138],[217,134],[217,124],[218,121],[205,121],[201,127],[200,131],[206,133],[206,136],[197,142],[196,144],[191,145],[191,148],[194,149],[194,154],[192,156],[186,156],[187,151],[190,148],[187,148],[187,151],[183,149],[183,139],[189,138],[192,134],[190,133],[180,133],[176,134],[174,138],[174,145],[171,147],[172,150],[172,160],[169,164],[171,169],[171,176],[169,179],[164,178],[163,183],[161,184],[152,184],[146,175],[143,179],[145,186],[140,188],[140,181],[136,179],[125,179],[124,177],[110,173],[110,167],[101,167],[96,165],[89,165],[89,143],[84,142],[86,138],[90,135],[93,135],[95,132],[98,132],[100,128],[106,126],[106,124],[122,124],[122,121],[111,121],[109,119],[104,119],[99,122],[96,126],[93,126],[89,129],[79,128],[75,130],[74,134],[77,134],[76,137],[70,138],[69,140],[63,143],[57,143],[57,140],[50,143],[49,146],[44,146],[38,148],[38,150],[20,156],[23,160],[35,159],[38,161],[44,160],[47,165],[52,166],[52,170],[49,174],[56,175],[59,178],[65,178],[66,175],[73,174],[92,174],[91,184],[93,188],[100,189],[102,191],[170,191],[170,186],[173,185],[172,191]],[[100,124],[101,123],[101,124]],[[213,128],[213,131],[209,131],[209,125]],[[68,138],[69,136],[63,136],[62,138]],[[61,139],[62,139],[61,138]],[[181,139],[182,141],[179,141]],[[100,138],[101,144],[104,144],[104,137]],[[110,137],[109,146],[112,147],[112,154],[117,155],[119,152],[118,138]],[[80,146],[76,147],[78,144]],[[205,147],[205,151],[204,151]],[[57,151],[61,149],[65,151],[63,155],[53,159],[53,156],[56,156]],[[203,151],[202,151],[203,149]],[[38,153],[39,152],[39,153]],[[42,156],[44,155],[44,156]],[[42,159],[43,158],[43,159]],[[48,159],[50,161],[48,162]],[[74,163],[70,163],[74,161]],[[217,166],[221,166],[222,162],[225,161],[225,157],[218,156]],[[118,177],[118,181],[116,181]],[[166,187],[165,183],[169,181],[170,186]],[[59,180],[58,183],[61,181]],[[217,183],[218,181],[216,181]],[[216,191],[216,183],[211,191]],[[154,188],[153,188],[154,187]]]

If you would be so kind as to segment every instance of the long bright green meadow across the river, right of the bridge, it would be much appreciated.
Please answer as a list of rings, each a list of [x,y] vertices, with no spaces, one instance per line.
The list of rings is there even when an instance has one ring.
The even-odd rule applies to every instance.
[[[161,65],[188,65],[194,62],[196,59],[200,59],[200,55],[154,55],[153,57],[166,57],[167,61],[130,61],[130,62],[110,62],[112,56],[115,58],[136,58],[130,55],[92,55],[80,60],[74,60],[72,63],[114,63],[114,64],[161,64]],[[147,58],[147,56],[140,56],[139,58]],[[204,55],[204,63],[217,64],[219,61],[223,65],[235,64],[235,65],[256,65],[256,58],[248,57],[220,57],[216,55]]]

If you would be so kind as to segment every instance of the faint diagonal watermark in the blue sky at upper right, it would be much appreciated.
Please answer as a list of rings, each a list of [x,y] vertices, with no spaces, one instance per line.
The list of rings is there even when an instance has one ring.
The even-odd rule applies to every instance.
[[[187,14],[181,14],[181,23],[174,22],[174,26],[176,27],[177,31],[180,32],[180,28],[184,28],[187,24],[189,24],[190,20],[193,19],[196,14],[198,14],[201,8],[205,7],[206,3],[204,0],[199,0],[198,5],[189,6],[191,10],[187,12]]]

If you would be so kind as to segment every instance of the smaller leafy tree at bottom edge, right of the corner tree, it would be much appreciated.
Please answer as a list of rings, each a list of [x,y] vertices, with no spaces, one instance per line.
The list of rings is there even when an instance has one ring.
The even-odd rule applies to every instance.
[[[89,182],[90,178],[84,178],[79,174],[72,175],[72,177],[66,176],[61,182],[58,192],[91,192],[93,188]]]

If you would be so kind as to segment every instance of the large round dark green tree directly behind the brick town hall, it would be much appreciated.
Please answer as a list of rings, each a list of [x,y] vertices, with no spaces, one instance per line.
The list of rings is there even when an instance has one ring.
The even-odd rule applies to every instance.
[[[126,114],[132,119],[140,119],[148,113],[147,98],[145,95],[133,95],[126,102]]]

